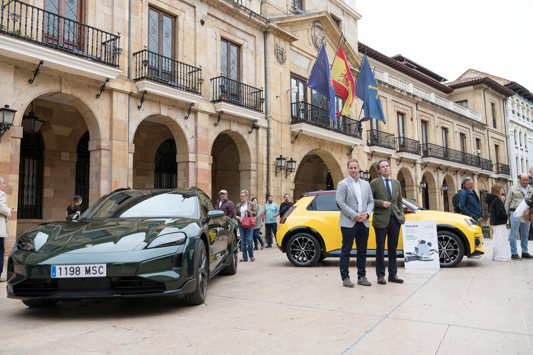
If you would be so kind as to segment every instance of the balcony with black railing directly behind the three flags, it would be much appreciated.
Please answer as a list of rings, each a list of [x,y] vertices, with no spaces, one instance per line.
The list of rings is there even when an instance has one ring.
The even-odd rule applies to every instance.
[[[305,125],[319,128],[305,128],[306,134],[313,137],[351,145],[353,145],[353,139],[350,138],[362,138],[362,126],[358,120],[342,115],[332,121],[329,118],[329,110],[310,103],[293,102],[290,115],[291,130],[294,130],[295,127],[303,127],[302,123],[305,123]],[[325,133],[324,130],[331,131],[331,133]]]

